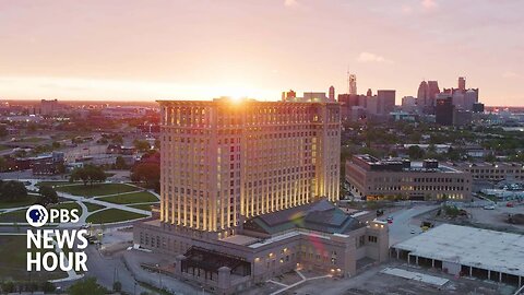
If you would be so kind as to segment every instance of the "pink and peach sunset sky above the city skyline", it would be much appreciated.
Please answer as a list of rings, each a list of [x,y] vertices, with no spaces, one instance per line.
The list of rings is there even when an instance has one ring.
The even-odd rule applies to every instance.
[[[522,0],[0,0],[0,98],[279,99],[422,79],[524,105]]]

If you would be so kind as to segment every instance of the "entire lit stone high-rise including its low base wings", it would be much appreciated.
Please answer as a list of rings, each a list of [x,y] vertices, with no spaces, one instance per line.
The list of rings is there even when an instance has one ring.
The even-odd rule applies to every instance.
[[[386,259],[388,226],[333,204],[337,103],[159,104],[159,220],[135,226],[134,243],[169,253],[176,276],[226,294],[295,268],[352,275],[358,259]]]

